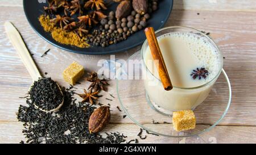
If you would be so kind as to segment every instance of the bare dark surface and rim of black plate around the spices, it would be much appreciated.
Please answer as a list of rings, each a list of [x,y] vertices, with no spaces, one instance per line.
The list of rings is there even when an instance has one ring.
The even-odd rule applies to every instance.
[[[128,49],[141,45],[146,39],[144,32],[141,30],[129,36],[125,41],[121,41],[117,44],[110,45],[104,48],[97,46],[92,46],[90,48],[79,48],[71,45],[57,43],[55,40],[52,39],[50,33],[43,30],[43,27],[40,25],[40,22],[38,20],[39,16],[44,14],[43,6],[47,5],[47,3],[44,3],[44,0],[23,0],[24,11],[27,16],[28,22],[30,23],[32,28],[38,33],[39,36],[43,37],[43,39],[61,49],[85,55],[105,55],[110,53],[127,51]],[[159,0],[159,9],[151,14],[151,18],[148,20],[147,26],[154,27],[155,30],[162,28],[171,13],[172,5],[173,0]],[[114,10],[117,6],[117,3],[113,3],[113,5],[111,6],[112,7],[110,7],[109,9]]]

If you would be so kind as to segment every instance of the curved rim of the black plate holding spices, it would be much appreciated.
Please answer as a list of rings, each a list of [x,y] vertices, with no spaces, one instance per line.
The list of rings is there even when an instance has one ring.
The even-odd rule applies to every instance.
[[[114,51],[109,51],[109,52],[84,52],[84,53],[81,53],[79,51],[75,51],[75,50],[72,50],[72,49],[68,49],[68,48],[65,48],[65,47],[62,47],[61,45],[57,45],[55,43],[53,43],[52,41],[48,40],[46,37],[44,37],[43,35],[41,35],[37,30],[36,28],[33,26],[30,18],[28,18],[28,15],[27,15],[27,12],[26,12],[26,9],[25,9],[25,5],[24,5],[24,1],[23,0],[23,10],[25,12],[25,15],[26,15],[26,18],[28,20],[28,23],[30,24],[30,26],[32,27],[32,29],[40,36],[42,37],[44,40],[46,40],[49,44],[52,44],[53,46],[57,47],[57,48],[60,48],[60,49],[63,49],[64,51],[68,51],[68,52],[73,52],[73,53],[79,53],[79,54],[82,54],[82,55],[108,55],[108,54],[112,54],[112,53],[118,53],[118,52],[124,52],[124,51],[127,51],[129,49],[132,49],[132,48],[135,48],[139,45],[142,45],[144,40],[142,41],[139,41],[137,44],[134,44],[134,45],[131,45],[130,47],[127,47],[127,48],[122,48],[122,49],[117,49],[117,50],[114,50]],[[171,1],[171,6],[170,6],[170,9],[168,11],[168,15],[166,16],[166,18],[163,20],[163,23],[160,25],[159,29],[160,28],[163,28],[164,24],[167,22],[168,18],[170,17],[171,15],[171,11],[172,11],[172,7],[174,6],[174,1]]]

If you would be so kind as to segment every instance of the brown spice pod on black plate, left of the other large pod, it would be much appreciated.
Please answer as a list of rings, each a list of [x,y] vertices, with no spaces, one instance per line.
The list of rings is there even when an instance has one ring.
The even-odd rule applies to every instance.
[[[122,19],[131,13],[131,2],[130,1],[122,1],[117,6],[117,10],[115,11],[115,18]]]

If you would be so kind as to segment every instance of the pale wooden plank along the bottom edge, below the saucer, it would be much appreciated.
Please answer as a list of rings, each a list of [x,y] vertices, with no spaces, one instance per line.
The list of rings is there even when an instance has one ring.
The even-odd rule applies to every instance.
[[[163,128],[166,124],[155,126]],[[22,135],[22,123],[17,122],[1,122],[0,123],[0,143],[19,143],[20,140],[26,141]],[[109,124],[102,131],[104,132],[120,132],[127,136],[127,141],[138,139],[139,143],[256,143],[256,127],[222,127],[217,126],[209,132],[202,133],[199,136],[187,138],[172,138],[164,136],[147,135],[143,131],[143,136],[147,135],[145,140],[141,140],[137,135],[139,127],[132,124]]]

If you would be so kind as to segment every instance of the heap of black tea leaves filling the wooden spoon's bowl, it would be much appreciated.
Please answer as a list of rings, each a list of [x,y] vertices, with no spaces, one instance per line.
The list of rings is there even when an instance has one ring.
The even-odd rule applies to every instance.
[[[63,102],[60,87],[51,78],[39,78],[34,82],[28,94],[31,102],[45,111],[53,110]]]

